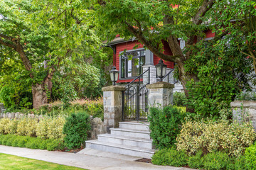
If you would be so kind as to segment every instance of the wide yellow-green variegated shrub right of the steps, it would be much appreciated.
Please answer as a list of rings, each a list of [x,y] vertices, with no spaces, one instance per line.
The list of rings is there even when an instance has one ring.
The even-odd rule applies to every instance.
[[[187,121],[182,125],[176,145],[178,150],[186,150],[188,154],[196,154],[202,149],[204,154],[218,150],[238,156],[245,147],[252,145],[255,137],[255,130],[250,123]]]

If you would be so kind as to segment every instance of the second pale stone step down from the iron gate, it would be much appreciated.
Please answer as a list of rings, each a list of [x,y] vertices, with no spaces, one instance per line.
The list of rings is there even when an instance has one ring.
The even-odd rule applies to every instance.
[[[110,128],[111,135],[124,137],[138,137],[150,140],[150,132],[148,130],[131,130],[123,128]]]

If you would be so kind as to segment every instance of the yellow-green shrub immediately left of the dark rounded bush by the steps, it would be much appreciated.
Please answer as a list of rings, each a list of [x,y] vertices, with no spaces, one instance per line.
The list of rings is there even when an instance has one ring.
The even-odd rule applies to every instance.
[[[63,140],[63,126],[65,124],[65,118],[63,116],[58,116],[57,118],[52,118],[48,124],[47,137],[49,139],[61,139]]]

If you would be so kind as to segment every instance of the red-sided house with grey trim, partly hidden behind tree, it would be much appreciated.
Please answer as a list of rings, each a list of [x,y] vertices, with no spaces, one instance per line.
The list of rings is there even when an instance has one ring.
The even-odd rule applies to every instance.
[[[214,37],[215,33],[212,33],[210,30],[206,31],[205,40],[210,40]],[[178,39],[181,49],[185,47],[185,41]],[[136,39],[132,38],[129,40],[124,40],[119,35],[117,35],[114,40],[107,44],[113,50],[113,65],[119,70],[119,79],[117,84],[125,85],[129,84],[131,81],[134,81],[139,75],[142,75],[149,70],[149,74],[144,74],[141,79],[136,79],[135,81],[143,81],[145,83],[155,83],[159,81],[159,78],[156,77],[156,67],[155,65],[159,63],[160,58],[153,54],[148,49],[145,49],[144,46]],[[164,54],[172,55],[171,49],[166,41],[163,40],[164,45]],[[134,49],[136,47],[136,49]],[[174,84],[174,91],[183,92],[183,86],[181,83],[178,83],[174,79],[174,72],[171,72],[174,69],[174,62],[164,61],[164,64],[167,65],[166,79],[164,81]],[[170,73],[171,72],[171,73]],[[150,77],[150,81],[148,81]],[[146,80],[145,80],[146,79]]]

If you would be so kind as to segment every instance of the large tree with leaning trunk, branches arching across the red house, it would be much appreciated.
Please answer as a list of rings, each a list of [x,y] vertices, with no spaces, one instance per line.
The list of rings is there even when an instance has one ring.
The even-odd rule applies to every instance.
[[[105,38],[112,40],[117,33],[127,39],[136,37],[161,59],[175,62],[178,67],[178,79],[183,84],[186,96],[188,96],[187,82],[199,80],[196,72],[189,72],[186,69],[186,63],[195,54],[190,49],[203,40],[206,30],[213,28],[219,30],[224,27],[223,25],[218,25],[219,28],[208,25],[208,23],[215,24],[220,4],[230,4],[233,8],[236,5],[232,4],[233,1],[215,0],[106,0],[97,1],[97,3],[94,6],[95,16],[100,28],[111,30],[105,32]],[[244,21],[228,22],[233,28],[244,24]],[[103,33],[102,30],[99,33]],[[215,34],[213,41],[219,43],[228,33],[226,30]],[[186,40],[186,50],[181,50],[178,38]],[[164,55],[162,40],[168,42],[173,55]]]

